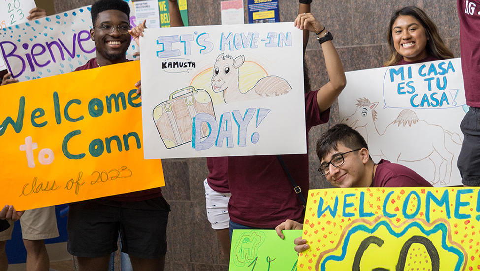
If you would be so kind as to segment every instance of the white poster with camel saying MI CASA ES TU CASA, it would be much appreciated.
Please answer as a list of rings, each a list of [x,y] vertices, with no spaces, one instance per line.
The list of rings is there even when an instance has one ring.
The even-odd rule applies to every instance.
[[[461,185],[468,111],[460,59],[347,72],[340,119],[365,137],[375,162],[403,164],[434,186]]]

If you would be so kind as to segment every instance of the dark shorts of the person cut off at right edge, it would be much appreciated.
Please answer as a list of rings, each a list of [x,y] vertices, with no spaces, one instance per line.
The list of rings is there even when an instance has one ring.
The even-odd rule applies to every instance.
[[[463,133],[463,143],[457,166],[462,183],[480,186],[480,108],[470,107],[463,117],[460,129]]]

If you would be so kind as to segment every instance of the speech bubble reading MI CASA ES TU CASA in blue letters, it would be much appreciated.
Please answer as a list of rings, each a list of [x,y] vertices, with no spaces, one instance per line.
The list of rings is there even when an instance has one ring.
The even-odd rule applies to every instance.
[[[463,106],[460,60],[391,66],[383,81],[384,108],[452,108]]]

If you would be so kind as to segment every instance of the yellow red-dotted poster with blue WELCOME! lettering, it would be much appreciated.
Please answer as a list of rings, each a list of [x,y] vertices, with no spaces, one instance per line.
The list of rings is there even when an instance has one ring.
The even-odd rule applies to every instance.
[[[480,270],[479,188],[310,190],[299,271]]]

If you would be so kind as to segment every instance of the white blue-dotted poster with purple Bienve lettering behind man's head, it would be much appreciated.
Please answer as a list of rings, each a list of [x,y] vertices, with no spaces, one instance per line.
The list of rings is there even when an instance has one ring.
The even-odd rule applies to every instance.
[[[91,28],[90,6],[9,26],[0,30],[0,54],[20,82],[71,72],[96,57]],[[128,59],[135,47],[132,41]]]

